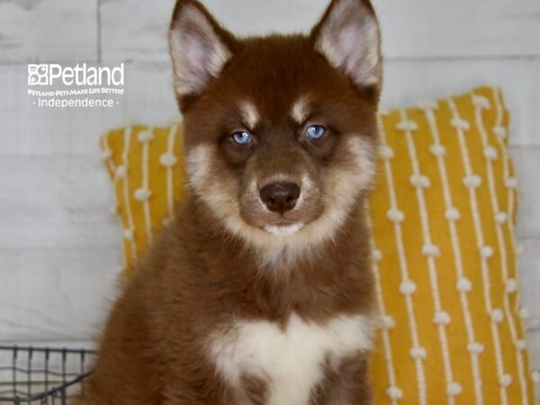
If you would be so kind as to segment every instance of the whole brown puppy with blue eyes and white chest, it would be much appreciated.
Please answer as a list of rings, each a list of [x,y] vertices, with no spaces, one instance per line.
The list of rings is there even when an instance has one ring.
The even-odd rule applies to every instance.
[[[170,29],[188,196],[116,303],[84,404],[369,404],[365,198],[379,29],[239,40],[195,0]]]

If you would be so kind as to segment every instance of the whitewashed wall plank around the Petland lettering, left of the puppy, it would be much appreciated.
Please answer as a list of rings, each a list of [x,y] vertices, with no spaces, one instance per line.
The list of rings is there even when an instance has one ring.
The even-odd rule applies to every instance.
[[[0,65],[1,155],[98,153],[99,135],[134,122],[149,125],[178,121],[180,114],[166,64],[125,66],[125,94],[112,108],[45,108],[26,94],[26,65]]]

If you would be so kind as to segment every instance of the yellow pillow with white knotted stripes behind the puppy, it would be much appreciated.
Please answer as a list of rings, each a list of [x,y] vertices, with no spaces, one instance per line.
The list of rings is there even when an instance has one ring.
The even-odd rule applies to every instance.
[[[384,328],[374,403],[534,403],[508,123],[500,91],[489,87],[380,114],[371,221]],[[135,126],[102,138],[127,275],[183,196],[180,135]]]

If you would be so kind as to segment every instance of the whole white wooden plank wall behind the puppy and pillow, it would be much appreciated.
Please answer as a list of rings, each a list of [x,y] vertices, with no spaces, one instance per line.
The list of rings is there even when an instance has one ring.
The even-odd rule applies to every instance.
[[[206,0],[241,34],[306,31],[328,0]],[[166,27],[174,0],[0,1],[0,341],[88,339],[114,296],[120,231],[98,156],[112,126],[179,118]],[[518,238],[529,343],[540,367],[540,1],[374,0],[383,105],[501,85],[523,190]],[[40,109],[28,62],[126,63],[112,110]]]

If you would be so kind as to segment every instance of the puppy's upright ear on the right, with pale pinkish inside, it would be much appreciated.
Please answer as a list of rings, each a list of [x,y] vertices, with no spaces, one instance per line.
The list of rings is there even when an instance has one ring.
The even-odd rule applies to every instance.
[[[360,88],[380,89],[381,33],[369,0],[332,0],[311,31],[315,49]]]

